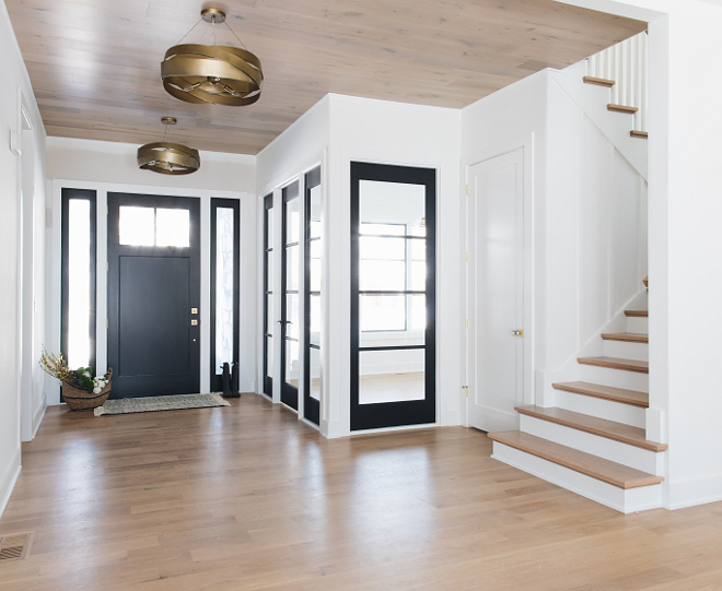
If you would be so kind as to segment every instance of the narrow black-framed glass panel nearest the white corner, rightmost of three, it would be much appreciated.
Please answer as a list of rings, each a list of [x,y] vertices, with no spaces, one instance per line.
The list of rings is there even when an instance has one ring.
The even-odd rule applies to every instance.
[[[314,168],[306,174],[305,192],[303,415],[312,423],[318,425],[321,418],[323,359],[321,350],[321,281],[323,273],[321,167]]]

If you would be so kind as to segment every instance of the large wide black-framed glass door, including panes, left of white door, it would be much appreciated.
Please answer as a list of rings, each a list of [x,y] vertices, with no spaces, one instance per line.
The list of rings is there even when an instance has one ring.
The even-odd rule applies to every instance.
[[[430,168],[351,163],[351,429],[435,422]]]

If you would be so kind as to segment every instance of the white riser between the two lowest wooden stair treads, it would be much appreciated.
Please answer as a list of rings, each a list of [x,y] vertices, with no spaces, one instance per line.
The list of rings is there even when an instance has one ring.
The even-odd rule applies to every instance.
[[[642,472],[655,475],[662,474],[664,453],[640,449],[534,416],[522,415],[521,430]]]

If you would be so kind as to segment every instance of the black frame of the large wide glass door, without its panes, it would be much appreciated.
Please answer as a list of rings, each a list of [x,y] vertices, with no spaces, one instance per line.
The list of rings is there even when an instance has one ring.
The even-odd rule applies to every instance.
[[[427,228],[427,326],[423,346],[360,346],[360,181],[377,180],[422,185],[426,194]],[[436,421],[436,170],[362,162],[351,163],[351,430],[430,424]],[[399,292],[406,295],[407,292]],[[359,353],[394,348],[424,348],[426,397],[423,400],[359,403]]]

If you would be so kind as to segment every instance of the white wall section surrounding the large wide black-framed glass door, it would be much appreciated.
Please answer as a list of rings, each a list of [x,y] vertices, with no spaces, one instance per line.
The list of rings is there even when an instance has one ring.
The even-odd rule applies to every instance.
[[[462,419],[461,343],[457,305],[462,273],[459,238],[461,111],[330,96],[329,194],[331,270],[328,315],[331,399],[322,409],[322,430],[350,433],[350,163],[375,162],[436,168],[436,422]]]

